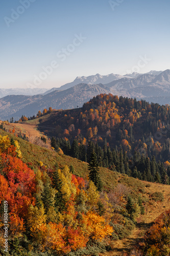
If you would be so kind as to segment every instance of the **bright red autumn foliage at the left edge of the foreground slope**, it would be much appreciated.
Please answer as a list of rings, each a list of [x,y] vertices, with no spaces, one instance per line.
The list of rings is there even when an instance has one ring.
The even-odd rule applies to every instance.
[[[2,154],[3,172],[7,180],[0,176],[0,200],[7,200],[11,214],[25,217],[28,206],[34,203],[35,174],[20,159]],[[18,217],[19,218],[19,217]]]

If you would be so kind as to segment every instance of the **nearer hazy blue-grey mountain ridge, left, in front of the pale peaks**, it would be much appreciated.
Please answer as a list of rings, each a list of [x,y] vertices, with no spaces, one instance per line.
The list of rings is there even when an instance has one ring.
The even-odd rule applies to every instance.
[[[48,109],[72,109],[82,106],[85,101],[101,93],[113,92],[103,84],[80,83],[64,91],[54,91],[46,95],[10,95],[0,99],[0,119],[7,120],[12,116],[18,120],[22,115],[36,115]]]

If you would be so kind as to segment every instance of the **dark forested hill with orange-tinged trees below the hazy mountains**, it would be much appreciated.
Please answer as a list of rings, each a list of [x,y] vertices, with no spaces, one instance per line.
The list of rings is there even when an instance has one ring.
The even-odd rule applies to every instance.
[[[56,151],[89,162],[94,150],[100,166],[168,184],[169,114],[168,105],[101,94],[81,109],[42,116],[38,127]]]

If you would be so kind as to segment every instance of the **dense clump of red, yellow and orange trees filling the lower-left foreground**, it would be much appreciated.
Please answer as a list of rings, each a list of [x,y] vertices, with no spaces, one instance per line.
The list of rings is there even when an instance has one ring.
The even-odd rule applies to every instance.
[[[52,169],[40,161],[31,169],[8,136],[0,139],[0,203],[8,201],[11,255],[33,255],[35,249],[60,255],[100,242],[104,250],[113,228],[96,212],[100,194],[94,183],[71,174],[68,166]]]

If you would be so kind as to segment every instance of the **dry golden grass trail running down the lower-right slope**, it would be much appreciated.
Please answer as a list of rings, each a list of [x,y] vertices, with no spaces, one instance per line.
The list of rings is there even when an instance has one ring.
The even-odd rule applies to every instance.
[[[149,182],[144,182],[149,183]],[[144,233],[153,224],[165,210],[170,209],[170,186],[159,183],[150,183],[150,187],[145,187],[147,196],[155,192],[162,192],[164,196],[163,202],[151,201],[145,207],[145,214],[137,220],[136,227],[127,239],[112,241],[112,251],[106,253],[99,253],[101,256],[123,256],[125,252],[130,252],[140,242],[142,242]]]

